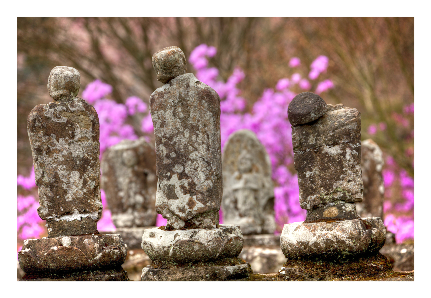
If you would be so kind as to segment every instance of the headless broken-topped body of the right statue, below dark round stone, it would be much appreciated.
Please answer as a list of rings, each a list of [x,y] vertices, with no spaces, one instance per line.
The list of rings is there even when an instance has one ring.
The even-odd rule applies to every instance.
[[[328,104],[315,122],[293,126],[294,166],[306,222],[343,218],[343,213],[345,219],[359,217],[354,208],[353,215],[344,209],[362,201],[360,138],[360,113],[343,104]]]

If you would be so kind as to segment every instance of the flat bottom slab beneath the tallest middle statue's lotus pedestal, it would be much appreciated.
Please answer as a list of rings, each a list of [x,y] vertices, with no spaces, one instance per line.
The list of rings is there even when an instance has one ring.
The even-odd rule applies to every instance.
[[[240,264],[223,265],[218,262],[217,266],[193,264],[185,267],[159,268],[148,265],[142,269],[141,281],[223,281],[247,278],[253,274],[250,264],[237,260]]]

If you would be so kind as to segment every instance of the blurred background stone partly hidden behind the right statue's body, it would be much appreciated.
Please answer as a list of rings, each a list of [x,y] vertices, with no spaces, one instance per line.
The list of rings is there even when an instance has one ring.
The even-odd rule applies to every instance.
[[[382,168],[383,153],[372,139],[362,141],[361,170],[364,184],[364,199],[356,204],[361,217],[383,216],[384,183]]]

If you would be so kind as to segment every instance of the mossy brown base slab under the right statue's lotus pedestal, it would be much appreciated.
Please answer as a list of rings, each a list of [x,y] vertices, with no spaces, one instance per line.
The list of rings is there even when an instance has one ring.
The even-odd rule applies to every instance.
[[[385,277],[392,272],[389,261],[377,252],[369,257],[350,261],[287,260],[278,277],[289,281],[319,281],[334,279],[363,279]]]

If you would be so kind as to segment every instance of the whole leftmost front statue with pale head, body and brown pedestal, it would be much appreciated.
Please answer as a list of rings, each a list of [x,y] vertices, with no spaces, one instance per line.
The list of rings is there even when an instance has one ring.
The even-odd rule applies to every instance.
[[[127,246],[100,235],[99,118],[77,98],[80,75],[57,66],[48,79],[54,101],[37,105],[27,128],[39,187],[39,216],[48,237],[25,240],[19,251],[23,280],[127,280]]]

